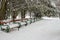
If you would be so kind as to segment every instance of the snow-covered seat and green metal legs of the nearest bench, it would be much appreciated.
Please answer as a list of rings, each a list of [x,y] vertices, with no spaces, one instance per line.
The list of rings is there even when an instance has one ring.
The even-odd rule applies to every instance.
[[[18,28],[18,30],[19,30],[20,27],[21,27],[21,25],[18,23],[11,23],[11,24],[2,25],[1,30],[5,30],[6,32],[9,32],[13,28]]]

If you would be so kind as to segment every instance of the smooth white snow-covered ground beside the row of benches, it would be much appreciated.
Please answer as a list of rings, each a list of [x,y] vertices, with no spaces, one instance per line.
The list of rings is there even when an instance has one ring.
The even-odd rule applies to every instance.
[[[44,18],[44,17],[43,17]],[[0,40],[60,40],[60,19],[43,20],[23,26],[10,33],[0,31]]]

